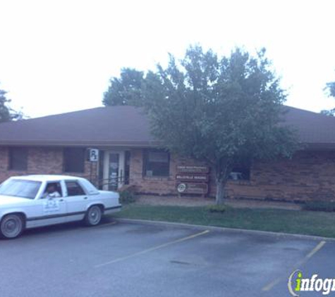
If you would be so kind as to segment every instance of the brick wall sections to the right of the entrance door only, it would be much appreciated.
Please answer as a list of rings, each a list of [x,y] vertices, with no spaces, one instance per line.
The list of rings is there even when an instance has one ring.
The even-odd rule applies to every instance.
[[[130,153],[130,184],[147,194],[176,194],[176,165],[203,165],[178,156],[171,156],[169,177],[143,177],[142,151]],[[215,196],[213,172],[209,196]],[[229,181],[229,198],[306,201],[335,200],[335,152],[300,151],[291,160],[255,162],[248,181]]]

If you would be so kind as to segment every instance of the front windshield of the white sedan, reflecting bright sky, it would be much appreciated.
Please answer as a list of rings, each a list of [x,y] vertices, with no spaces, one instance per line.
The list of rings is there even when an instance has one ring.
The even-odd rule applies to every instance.
[[[0,185],[0,195],[34,199],[42,182],[25,179],[7,179]]]

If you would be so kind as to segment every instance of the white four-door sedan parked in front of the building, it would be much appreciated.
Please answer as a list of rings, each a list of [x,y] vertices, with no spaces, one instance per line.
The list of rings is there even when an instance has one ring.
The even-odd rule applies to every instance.
[[[95,226],[102,215],[120,209],[118,193],[99,191],[81,177],[27,175],[0,185],[0,233],[7,239],[26,228],[63,222]]]

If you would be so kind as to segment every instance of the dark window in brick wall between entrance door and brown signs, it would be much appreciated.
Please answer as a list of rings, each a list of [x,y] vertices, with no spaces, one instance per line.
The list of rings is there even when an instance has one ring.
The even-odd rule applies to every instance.
[[[170,155],[166,151],[145,151],[143,165],[143,173],[147,177],[168,177],[170,172]]]

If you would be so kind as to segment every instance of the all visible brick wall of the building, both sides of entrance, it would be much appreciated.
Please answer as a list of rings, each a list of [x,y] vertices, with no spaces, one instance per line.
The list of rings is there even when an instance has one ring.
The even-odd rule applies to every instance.
[[[169,177],[144,177],[143,150],[130,149],[130,184],[144,194],[176,194],[176,166],[202,163],[171,156]],[[13,175],[66,174],[97,181],[97,163],[85,162],[85,172],[63,172],[63,148],[28,149],[28,170],[8,170],[8,148],[0,147],[0,182]],[[211,176],[209,195],[215,195]],[[291,160],[255,162],[248,181],[230,181],[229,198],[283,201],[335,200],[335,151],[300,151]]]

